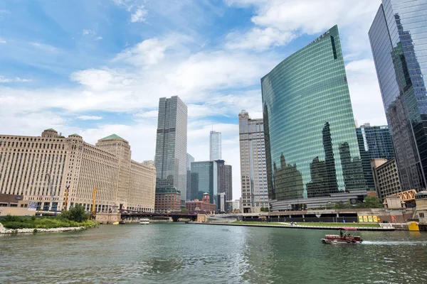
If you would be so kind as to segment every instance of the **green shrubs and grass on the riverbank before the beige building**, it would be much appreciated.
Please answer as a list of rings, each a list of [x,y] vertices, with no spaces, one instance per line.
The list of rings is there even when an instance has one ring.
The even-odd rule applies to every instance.
[[[0,234],[38,233],[45,231],[76,231],[93,228],[97,222],[89,220],[89,215],[80,205],[58,216],[20,217],[8,215],[0,219]]]

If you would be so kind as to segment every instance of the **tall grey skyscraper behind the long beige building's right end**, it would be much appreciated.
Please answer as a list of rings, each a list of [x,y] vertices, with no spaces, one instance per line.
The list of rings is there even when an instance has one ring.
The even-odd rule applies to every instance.
[[[186,200],[187,107],[179,97],[160,98],[157,119],[156,198],[179,192],[181,207]]]

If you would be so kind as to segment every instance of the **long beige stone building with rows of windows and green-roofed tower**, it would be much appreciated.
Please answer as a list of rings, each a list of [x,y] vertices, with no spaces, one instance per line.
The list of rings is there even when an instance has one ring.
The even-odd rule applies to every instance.
[[[41,136],[2,135],[0,165],[0,193],[22,195],[38,210],[62,211],[68,187],[68,209],[82,204],[89,211],[97,188],[97,212],[154,212],[156,170],[131,160],[129,143],[117,135],[96,146],[53,129]]]

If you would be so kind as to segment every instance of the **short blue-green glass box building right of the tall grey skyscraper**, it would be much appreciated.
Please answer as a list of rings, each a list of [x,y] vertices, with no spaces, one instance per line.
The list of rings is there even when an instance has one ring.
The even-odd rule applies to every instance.
[[[214,160],[191,163],[191,200],[202,200],[204,193],[216,204],[218,195],[218,167]]]

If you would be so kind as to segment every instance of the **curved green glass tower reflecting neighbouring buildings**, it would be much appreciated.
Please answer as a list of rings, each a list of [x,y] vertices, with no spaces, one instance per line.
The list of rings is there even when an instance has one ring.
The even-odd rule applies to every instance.
[[[367,185],[337,26],[280,62],[261,87],[272,209],[363,198]]]

